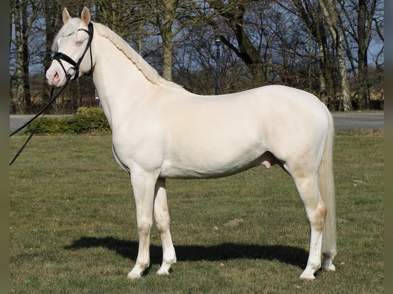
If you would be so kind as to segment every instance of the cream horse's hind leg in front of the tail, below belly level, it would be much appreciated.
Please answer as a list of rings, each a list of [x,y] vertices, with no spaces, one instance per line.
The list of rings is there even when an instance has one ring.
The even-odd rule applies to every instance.
[[[315,279],[315,272],[321,267],[322,263],[322,228],[326,208],[319,192],[317,176],[294,178],[294,181],[311,227],[310,253],[307,266],[300,278],[313,280]]]

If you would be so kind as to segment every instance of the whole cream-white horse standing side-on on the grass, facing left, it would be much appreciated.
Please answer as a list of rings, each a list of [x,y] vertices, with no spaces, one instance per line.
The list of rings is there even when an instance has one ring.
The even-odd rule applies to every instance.
[[[61,56],[52,61],[46,77],[50,85],[61,87],[67,79],[93,71],[112,128],[113,155],[131,176],[136,202],[139,251],[128,278],[141,277],[149,266],[153,215],[163,247],[157,274],[168,275],[176,262],[166,178],[225,177],[261,164],[266,169],[280,165],[304,204],[311,236],[300,278],[315,279],[322,255],[322,268],[335,270],[333,122],[317,97],[284,86],[195,95],[159,76],[113,31],[91,23],[86,7],[81,19],[64,9],[63,21],[52,48]]]

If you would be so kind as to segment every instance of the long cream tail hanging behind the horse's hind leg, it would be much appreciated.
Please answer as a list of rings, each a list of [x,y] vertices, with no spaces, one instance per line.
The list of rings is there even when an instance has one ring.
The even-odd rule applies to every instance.
[[[318,171],[318,186],[322,200],[326,206],[326,218],[322,233],[322,253],[324,257],[332,260],[336,254],[336,203],[335,182],[333,179],[333,137],[335,134],[333,118],[328,115],[328,132],[321,165]]]

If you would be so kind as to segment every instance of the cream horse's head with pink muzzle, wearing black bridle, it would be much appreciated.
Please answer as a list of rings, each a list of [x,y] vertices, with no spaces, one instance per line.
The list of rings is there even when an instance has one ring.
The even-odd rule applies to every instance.
[[[84,7],[81,18],[71,18],[64,8],[63,22],[64,26],[53,41],[52,51],[56,53],[46,72],[49,85],[54,87],[62,87],[67,80],[76,79],[93,69],[93,25],[89,10]],[[86,54],[88,50],[90,54]]]

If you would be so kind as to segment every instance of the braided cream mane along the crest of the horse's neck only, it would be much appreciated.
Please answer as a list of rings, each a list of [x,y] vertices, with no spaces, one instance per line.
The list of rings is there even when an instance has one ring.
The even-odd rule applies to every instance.
[[[156,69],[149,65],[140,54],[138,54],[123,38],[111,29],[100,23],[93,23],[93,25],[97,34],[110,40],[117,49],[121,50],[128,59],[133,62],[137,69],[139,69],[150,82],[155,85],[164,84],[172,88],[183,88],[182,86],[160,76]]]

